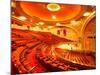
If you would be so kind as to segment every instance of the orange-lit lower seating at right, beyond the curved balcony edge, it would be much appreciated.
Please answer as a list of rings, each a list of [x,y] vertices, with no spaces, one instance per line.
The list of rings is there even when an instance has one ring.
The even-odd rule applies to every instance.
[[[56,48],[55,50],[61,57],[63,57],[67,61],[90,67],[95,67],[96,65],[95,58],[86,53],[84,54],[76,51],[62,50],[59,48]]]

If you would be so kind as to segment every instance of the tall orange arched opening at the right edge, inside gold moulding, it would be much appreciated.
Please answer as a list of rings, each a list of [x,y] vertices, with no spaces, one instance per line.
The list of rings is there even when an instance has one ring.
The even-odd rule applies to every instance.
[[[96,17],[91,19],[83,32],[83,45],[85,52],[96,50]]]

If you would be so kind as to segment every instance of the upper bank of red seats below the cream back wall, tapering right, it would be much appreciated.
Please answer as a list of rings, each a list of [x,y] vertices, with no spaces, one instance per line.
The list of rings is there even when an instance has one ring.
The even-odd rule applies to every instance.
[[[71,41],[64,38],[59,38],[49,32],[32,32],[27,30],[18,30],[18,29],[12,29],[12,33],[22,36],[23,38],[29,38],[33,39],[36,37],[37,39],[47,43],[47,44],[58,44],[60,42],[66,42]]]

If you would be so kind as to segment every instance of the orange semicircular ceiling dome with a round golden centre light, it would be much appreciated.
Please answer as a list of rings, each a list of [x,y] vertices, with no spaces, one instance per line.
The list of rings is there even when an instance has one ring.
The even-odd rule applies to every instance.
[[[82,11],[81,5],[50,4],[36,2],[17,2],[28,16],[35,16],[44,21],[67,21],[75,18]]]

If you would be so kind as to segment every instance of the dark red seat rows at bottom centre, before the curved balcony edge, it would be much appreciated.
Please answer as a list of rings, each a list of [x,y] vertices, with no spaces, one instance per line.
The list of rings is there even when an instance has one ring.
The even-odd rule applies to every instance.
[[[41,54],[37,55],[38,60],[41,64],[44,64],[46,68],[50,71],[69,71],[78,70],[76,67],[71,67],[69,64],[65,64],[53,56],[43,56]]]

